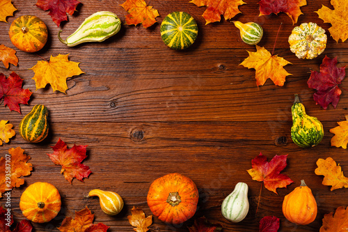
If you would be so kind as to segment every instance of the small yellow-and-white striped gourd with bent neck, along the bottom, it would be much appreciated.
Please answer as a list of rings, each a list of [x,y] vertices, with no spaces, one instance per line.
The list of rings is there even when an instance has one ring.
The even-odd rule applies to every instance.
[[[116,192],[90,190],[87,197],[89,196],[99,197],[100,208],[107,215],[117,215],[123,208],[123,200]]]

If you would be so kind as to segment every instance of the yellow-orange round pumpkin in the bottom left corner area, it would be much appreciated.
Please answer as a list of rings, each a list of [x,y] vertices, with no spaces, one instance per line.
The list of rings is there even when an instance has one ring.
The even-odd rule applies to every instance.
[[[22,193],[19,208],[31,222],[49,222],[61,210],[61,195],[54,185],[36,182]]]

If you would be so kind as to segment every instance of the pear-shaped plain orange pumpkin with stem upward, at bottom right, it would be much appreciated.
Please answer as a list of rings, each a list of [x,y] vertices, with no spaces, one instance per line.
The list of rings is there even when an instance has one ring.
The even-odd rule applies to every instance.
[[[284,197],[283,214],[290,222],[298,225],[310,224],[317,217],[317,201],[304,180]]]

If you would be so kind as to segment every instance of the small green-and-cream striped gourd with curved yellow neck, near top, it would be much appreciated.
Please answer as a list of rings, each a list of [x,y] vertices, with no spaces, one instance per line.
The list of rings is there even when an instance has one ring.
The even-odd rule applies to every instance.
[[[263,30],[259,24],[255,22],[247,22],[246,24],[239,21],[233,22],[237,26],[237,29],[239,29],[240,37],[246,44],[256,45],[262,39]]]

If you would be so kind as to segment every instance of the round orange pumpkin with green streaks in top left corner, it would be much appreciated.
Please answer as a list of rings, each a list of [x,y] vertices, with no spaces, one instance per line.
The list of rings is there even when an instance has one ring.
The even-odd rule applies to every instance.
[[[38,52],[47,42],[46,24],[33,15],[18,17],[8,33],[13,45],[23,52]]]

